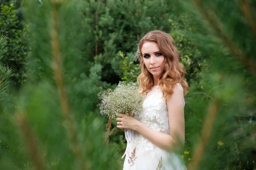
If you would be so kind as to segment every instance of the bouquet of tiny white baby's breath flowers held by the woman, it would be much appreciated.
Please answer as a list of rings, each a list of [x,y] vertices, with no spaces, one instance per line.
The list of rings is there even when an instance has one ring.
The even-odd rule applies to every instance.
[[[112,115],[116,119],[117,113],[139,116],[142,111],[143,95],[139,93],[137,83],[119,82],[115,89],[108,89],[98,96],[101,100],[99,109],[102,115]]]

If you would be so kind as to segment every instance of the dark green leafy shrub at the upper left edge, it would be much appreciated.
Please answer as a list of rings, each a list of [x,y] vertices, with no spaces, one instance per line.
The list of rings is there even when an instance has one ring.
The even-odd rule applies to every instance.
[[[21,29],[13,3],[1,5],[0,32],[7,37],[2,63],[12,68],[12,82],[18,87],[26,81],[29,47],[26,45],[27,29]]]

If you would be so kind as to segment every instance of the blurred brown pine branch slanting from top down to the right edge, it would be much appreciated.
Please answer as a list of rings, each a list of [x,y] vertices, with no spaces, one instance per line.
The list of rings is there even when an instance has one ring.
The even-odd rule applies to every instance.
[[[241,50],[233,44],[230,37],[228,37],[226,31],[224,31],[224,26],[221,24],[221,21],[218,20],[217,16],[209,9],[208,10],[204,9],[201,3],[201,0],[193,0],[193,1],[197,6],[198,11],[207,21],[207,23],[209,24],[210,28],[212,28],[216,36],[222,40],[224,45],[226,45],[227,48],[229,48],[229,50],[233,52],[233,54],[236,57],[238,57],[238,59],[240,59],[241,62],[244,63],[244,65],[246,65],[249,68],[250,71],[256,74],[256,63],[252,59],[249,59],[248,57],[244,56]]]

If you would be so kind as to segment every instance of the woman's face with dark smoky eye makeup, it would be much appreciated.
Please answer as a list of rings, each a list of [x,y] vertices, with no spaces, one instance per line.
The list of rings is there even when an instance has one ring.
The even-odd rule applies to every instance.
[[[145,42],[141,48],[143,62],[154,78],[159,79],[164,71],[165,57],[156,42]]]

